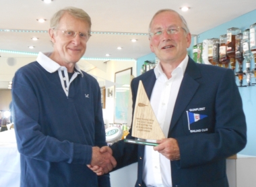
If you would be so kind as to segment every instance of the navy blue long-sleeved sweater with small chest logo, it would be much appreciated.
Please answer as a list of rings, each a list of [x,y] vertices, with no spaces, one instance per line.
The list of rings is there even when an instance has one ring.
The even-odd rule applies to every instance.
[[[110,186],[109,175],[96,176],[86,164],[92,146],[106,145],[100,88],[85,72],[61,86],[58,71],[38,62],[13,78],[15,133],[20,151],[21,186]]]

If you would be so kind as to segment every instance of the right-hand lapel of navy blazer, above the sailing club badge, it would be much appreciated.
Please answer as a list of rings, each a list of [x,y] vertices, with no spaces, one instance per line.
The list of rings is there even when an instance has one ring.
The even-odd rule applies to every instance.
[[[189,62],[187,64],[187,68],[185,70],[185,74],[181,82],[181,87],[179,89],[177,100],[172,113],[169,134],[174,125],[176,125],[178,119],[181,117],[181,114],[185,111],[185,107],[187,107],[189,101],[191,101],[193,95],[195,95],[195,92],[199,86],[199,83],[195,81],[195,79],[200,77],[201,73],[197,68],[197,65],[195,62],[193,62],[193,60],[191,60],[191,58],[189,58]]]

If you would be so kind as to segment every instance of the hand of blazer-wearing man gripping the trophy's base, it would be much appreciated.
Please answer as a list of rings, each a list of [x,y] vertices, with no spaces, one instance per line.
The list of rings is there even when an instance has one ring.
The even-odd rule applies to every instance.
[[[165,138],[156,141],[156,143],[159,143],[159,145],[154,147],[155,151],[164,155],[168,160],[180,160],[180,149],[176,139]]]

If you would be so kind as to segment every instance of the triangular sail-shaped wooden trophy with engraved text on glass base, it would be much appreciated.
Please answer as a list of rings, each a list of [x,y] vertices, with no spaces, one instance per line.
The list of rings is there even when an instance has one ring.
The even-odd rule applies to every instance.
[[[157,139],[165,138],[141,80],[139,80],[131,135],[135,139],[125,139],[124,141],[127,143],[156,146],[158,145],[156,143]]]

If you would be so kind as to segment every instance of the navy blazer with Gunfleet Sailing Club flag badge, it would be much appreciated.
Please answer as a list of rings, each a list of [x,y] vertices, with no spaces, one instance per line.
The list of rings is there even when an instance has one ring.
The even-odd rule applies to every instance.
[[[156,82],[154,70],[131,82],[133,109],[139,80],[150,98]],[[189,58],[168,131],[168,137],[177,139],[181,153],[181,160],[170,162],[172,186],[228,186],[226,158],[245,147],[246,131],[234,72],[197,64]],[[131,133],[127,138],[133,138]],[[144,146],[119,141],[111,148],[117,160],[116,169],[138,162],[135,186],[145,186],[142,180]]]

